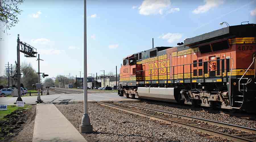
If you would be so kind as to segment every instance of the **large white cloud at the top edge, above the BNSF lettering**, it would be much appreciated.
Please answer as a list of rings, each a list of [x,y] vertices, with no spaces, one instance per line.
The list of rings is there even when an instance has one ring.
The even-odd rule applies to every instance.
[[[170,0],[144,0],[139,7],[142,15],[163,14],[163,10],[170,7]]]

